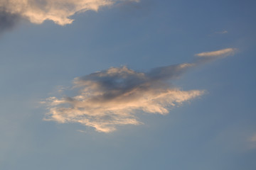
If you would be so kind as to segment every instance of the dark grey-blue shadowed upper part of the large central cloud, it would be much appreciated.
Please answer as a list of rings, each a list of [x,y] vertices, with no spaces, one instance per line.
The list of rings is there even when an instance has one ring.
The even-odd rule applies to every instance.
[[[127,67],[110,68],[102,72],[90,74],[85,77],[75,79],[78,86],[95,86],[97,91],[102,91],[100,96],[93,96],[92,100],[110,101],[120,96],[125,96],[131,91],[147,91],[149,89],[164,89],[168,86],[166,80],[178,77],[189,64],[172,65],[159,67],[150,72],[134,72]],[[127,100],[133,98],[136,93],[120,99]]]

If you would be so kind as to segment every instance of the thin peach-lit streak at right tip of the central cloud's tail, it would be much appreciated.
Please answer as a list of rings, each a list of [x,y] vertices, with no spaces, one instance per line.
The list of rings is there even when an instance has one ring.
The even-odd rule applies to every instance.
[[[237,49],[235,48],[225,48],[222,50],[212,51],[212,52],[201,52],[196,54],[198,57],[226,57],[228,55],[233,55]]]

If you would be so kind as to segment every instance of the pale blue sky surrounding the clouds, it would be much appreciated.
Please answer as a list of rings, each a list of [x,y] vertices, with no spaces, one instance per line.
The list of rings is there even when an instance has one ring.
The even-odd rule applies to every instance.
[[[256,169],[255,5],[126,1],[75,14],[65,26],[21,19],[2,31],[0,169]],[[143,125],[105,133],[43,120],[48,111],[39,102],[61,97],[58,86],[75,77],[124,65],[149,72],[225,48],[235,54],[170,82],[205,94],[167,115],[138,111]]]

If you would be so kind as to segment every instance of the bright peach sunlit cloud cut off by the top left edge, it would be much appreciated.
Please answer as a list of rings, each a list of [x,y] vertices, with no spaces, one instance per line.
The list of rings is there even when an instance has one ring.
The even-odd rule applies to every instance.
[[[111,6],[117,2],[115,0],[0,0],[0,8],[4,9],[4,13],[28,18],[31,23],[40,24],[50,20],[64,26],[73,22],[70,17],[75,13],[98,11],[102,6]]]

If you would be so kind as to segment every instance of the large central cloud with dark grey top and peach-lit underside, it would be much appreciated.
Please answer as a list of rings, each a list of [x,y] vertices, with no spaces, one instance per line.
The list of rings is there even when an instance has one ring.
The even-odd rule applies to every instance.
[[[141,112],[165,115],[174,106],[204,94],[203,90],[184,91],[170,84],[201,63],[196,60],[149,72],[112,67],[75,78],[72,90],[77,95],[50,97],[43,102],[48,106],[45,120],[80,123],[99,132],[112,132],[118,125],[142,124],[137,117]]]

